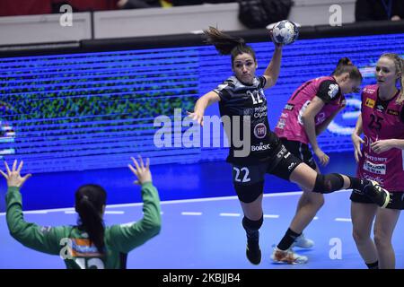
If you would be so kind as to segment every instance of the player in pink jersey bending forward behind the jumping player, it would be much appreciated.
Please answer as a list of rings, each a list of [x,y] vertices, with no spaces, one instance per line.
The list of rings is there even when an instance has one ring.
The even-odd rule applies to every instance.
[[[362,75],[358,68],[347,57],[343,57],[330,76],[312,79],[297,88],[287,101],[275,128],[275,133],[285,148],[320,173],[308,144],[312,145],[312,151],[321,164],[327,165],[329,156],[321,151],[317,135],[320,135],[338,112],[345,108],[344,94],[357,91],[361,83]],[[311,239],[304,237],[303,230],[324,204],[324,196],[301,188],[303,195],[300,197],[294,219],[275,248],[274,254],[279,249],[286,250],[294,246],[312,248],[314,245]],[[275,256],[273,260],[277,261]]]

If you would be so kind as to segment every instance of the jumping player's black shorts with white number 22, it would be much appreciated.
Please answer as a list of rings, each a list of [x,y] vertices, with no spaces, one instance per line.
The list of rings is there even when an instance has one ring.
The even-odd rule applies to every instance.
[[[279,144],[277,152],[268,161],[256,165],[232,164],[233,186],[237,196],[243,203],[253,202],[263,193],[266,173],[289,180],[300,163],[302,161],[299,158],[288,152],[283,144]]]

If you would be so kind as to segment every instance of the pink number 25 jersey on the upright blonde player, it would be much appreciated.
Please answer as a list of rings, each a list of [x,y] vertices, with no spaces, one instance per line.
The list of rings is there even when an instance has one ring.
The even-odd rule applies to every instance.
[[[368,85],[362,92],[362,123],[364,144],[356,174],[359,178],[378,181],[387,190],[404,191],[404,152],[393,148],[375,153],[371,143],[385,139],[404,139],[404,123],[400,119],[403,104],[397,104],[397,95],[390,101],[378,100],[378,86]]]

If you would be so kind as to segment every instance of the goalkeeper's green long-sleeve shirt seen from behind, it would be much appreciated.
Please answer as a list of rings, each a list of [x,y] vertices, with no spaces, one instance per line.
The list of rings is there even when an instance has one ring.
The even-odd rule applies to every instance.
[[[10,234],[22,245],[65,260],[68,269],[125,268],[127,253],[160,232],[160,199],[151,182],[142,185],[143,218],[136,223],[105,228],[105,252],[99,254],[88,235],[77,226],[42,227],[25,222],[20,188],[9,187],[5,196]]]

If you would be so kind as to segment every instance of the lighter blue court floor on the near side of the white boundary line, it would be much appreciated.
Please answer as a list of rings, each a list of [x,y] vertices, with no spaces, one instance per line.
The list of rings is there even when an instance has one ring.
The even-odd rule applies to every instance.
[[[166,201],[162,203],[162,231],[159,236],[133,250],[128,268],[364,268],[351,237],[349,193],[328,195],[326,204],[306,230],[315,241],[315,248],[302,250],[310,257],[305,265],[274,265],[269,260],[271,245],[285,232],[300,192],[270,194],[264,198],[265,221],[261,229],[263,261],[250,265],[245,258],[245,235],[241,208],[234,196]],[[134,222],[142,216],[140,204],[110,205],[106,224]],[[73,209],[27,212],[29,222],[42,225],[75,222]],[[24,248],[13,240],[0,215],[0,268],[65,268],[58,257]],[[397,268],[404,268],[403,219],[398,222],[393,244]],[[339,241],[340,240],[340,241]],[[333,252],[339,241],[341,258]],[[298,248],[296,248],[296,251]],[[331,253],[331,256],[330,256]],[[334,255],[334,256],[333,256]],[[331,259],[333,257],[333,259]],[[337,257],[337,258],[335,258]]]

